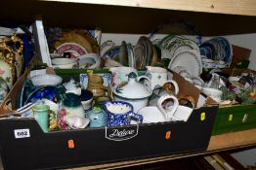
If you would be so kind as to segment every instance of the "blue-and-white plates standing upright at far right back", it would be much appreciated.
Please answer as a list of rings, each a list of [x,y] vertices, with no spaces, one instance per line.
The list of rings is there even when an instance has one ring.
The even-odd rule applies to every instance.
[[[233,57],[232,45],[224,37],[215,37],[199,47],[203,55],[203,67],[223,68],[230,66]]]

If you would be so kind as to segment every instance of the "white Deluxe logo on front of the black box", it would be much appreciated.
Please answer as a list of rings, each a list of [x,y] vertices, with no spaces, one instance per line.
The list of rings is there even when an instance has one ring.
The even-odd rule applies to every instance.
[[[131,127],[106,127],[106,138],[112,141],[124,141],[138,135],[139,124]]]

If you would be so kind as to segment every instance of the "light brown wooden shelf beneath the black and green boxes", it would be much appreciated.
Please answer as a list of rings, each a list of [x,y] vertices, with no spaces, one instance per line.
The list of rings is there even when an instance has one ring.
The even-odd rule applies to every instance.
[[[146,159],[136,159],[130,161],[120,161],[115,163],[107,163],[95,166],[86,166],[79,168],[72,168],[71,170],[91,170],[91,169],[114,169],[129,166],[142,165],[147,163],[154,163],[166,160],[172,160],[183,157],[190,157],[194,155],[217,153],[221,151],[234,150],[246,147],[256,146],[256,128],[250,130],[244,130],[234,133],[225,133],[221,135],[212,136],[208,146],[208,150],[205,152],[197,153],[184,153],[184,154],[172,154],[166,156],[152,157]]]

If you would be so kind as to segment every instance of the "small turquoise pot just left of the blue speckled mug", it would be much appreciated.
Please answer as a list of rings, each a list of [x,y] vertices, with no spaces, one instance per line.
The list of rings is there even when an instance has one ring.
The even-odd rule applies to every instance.
[[[90,119],[90,127],[104,127],[107,125],[107,114],[99,107],[94,107],[86,115]]]

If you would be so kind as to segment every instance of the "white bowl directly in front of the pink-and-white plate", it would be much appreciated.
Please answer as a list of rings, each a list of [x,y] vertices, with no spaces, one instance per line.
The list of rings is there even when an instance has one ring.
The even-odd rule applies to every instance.
[[[78,65],[77,58],[54,58],[52,59],[54,68],[68,69],[76,68]]]

